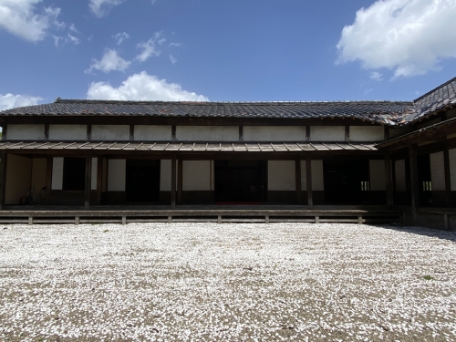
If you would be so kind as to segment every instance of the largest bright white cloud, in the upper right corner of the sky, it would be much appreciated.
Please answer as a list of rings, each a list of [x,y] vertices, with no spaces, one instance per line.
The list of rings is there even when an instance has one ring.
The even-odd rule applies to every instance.
[[[338,63],[394,70],[394,77],[439,69],[456,57],[456,0],[378,0],[357,12],[337,44]]]

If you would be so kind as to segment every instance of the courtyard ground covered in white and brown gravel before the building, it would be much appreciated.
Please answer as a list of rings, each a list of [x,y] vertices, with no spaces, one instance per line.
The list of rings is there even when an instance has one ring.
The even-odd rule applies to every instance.
[[[456,233],[0,226],[2,341],[454,341]]]

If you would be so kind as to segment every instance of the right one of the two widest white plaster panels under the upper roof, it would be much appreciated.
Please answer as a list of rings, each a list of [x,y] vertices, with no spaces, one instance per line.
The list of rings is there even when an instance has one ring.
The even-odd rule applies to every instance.
[[[306,126],[244,126],[244,141],[305,141]]]

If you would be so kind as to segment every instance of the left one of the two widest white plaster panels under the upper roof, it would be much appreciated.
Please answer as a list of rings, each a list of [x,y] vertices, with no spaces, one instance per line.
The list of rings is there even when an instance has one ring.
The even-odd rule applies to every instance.
[[[181,141],[237,141],[237,126],[177,126],[176,139]]]

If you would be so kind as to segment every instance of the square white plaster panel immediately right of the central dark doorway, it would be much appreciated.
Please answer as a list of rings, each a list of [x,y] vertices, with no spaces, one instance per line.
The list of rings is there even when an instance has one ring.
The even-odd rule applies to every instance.
[[[267,189],[295,191],[295,161],[267,161]]]

